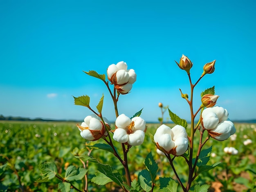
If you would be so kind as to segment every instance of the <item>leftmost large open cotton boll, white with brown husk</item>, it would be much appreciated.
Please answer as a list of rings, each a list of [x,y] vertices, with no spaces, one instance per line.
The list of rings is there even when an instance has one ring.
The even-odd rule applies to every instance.
[[[103,120],[109,126],[108,120],[104,117]],[[104,123],[95,114],[85,117],[84,122],[81,125],[77,124],[76,127],[80,130],[81,136],[89,141],[96,141],[107,135]]]

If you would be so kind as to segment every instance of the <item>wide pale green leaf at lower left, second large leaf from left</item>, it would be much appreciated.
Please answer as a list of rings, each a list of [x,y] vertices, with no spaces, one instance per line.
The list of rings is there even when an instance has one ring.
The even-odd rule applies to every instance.
[[[76,168],[74,165],[70,165],[69,167],[67,167],[64,179],[66,181],[78,181],[78,180],[81,180],[85,176],[87,171],[88,170],[86,170],[83,167]]]

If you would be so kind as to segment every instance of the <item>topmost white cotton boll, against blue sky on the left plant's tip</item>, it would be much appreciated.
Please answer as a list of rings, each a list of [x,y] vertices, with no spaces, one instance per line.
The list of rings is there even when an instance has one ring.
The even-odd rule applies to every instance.
[[[107,74],[108,80],[115,85],[115,88],[121,94],[127,94],[137,78],[133,69],[127,70],[127,64],[124,61],[118,62],[117,65],[110,65]]]

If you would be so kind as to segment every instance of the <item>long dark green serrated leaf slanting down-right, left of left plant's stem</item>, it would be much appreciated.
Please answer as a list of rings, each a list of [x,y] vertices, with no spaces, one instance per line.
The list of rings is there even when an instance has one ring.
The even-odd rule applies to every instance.
[[[99,162],[98,170],[99,172],[108,176],[112,181],[117,183],[117,185],[122,186],[122,183],[124,183],[123,176],[121,176],[121,174],[117,170],[112,168],[110,165],[104,165]]]

